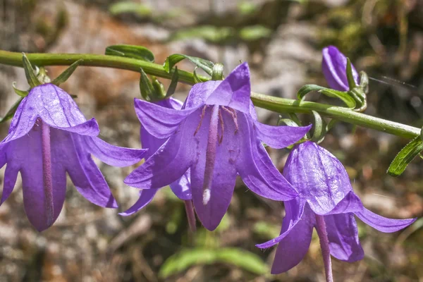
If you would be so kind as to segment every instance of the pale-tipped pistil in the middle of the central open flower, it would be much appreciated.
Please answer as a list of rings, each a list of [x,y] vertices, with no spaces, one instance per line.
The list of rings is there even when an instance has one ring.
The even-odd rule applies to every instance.
[[[216,160],[216,149],[218,143],[217,127],[219,124],[219,105],[214,105],[212,109],[212,118],[210,118],[209,138],[207,140],[206,167],[204,168],[203,183],[203,204],[209,202],[214,173],[214,161]]]

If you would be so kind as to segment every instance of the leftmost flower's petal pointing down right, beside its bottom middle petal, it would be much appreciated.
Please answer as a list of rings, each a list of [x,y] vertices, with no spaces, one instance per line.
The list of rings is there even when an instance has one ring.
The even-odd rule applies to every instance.
[[[75,188],[85,199],[99,207],[118,207],[102,172],[84,149],[82,138],[66,131],[51,130],[53,154],[61,159]]]

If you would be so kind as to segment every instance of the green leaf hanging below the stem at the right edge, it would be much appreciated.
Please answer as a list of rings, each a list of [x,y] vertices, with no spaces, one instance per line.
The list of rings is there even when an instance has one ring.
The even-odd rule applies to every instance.
[[[423,150],[423,141],[419,137],[415,137],[410,143],[408,143],[393,159],[391,165],[388,168],[388,174],[390,176],[400,176],[407,167],[408,164]]]

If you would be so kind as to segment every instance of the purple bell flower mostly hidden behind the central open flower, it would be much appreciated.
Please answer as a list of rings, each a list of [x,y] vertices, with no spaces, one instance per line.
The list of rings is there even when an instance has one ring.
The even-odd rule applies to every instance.
[[[180,110],[180,108],[182,107],[182,102],[173,98],[163,99],[159,102],[155,102],[154,104],[157,104],[158,106],[163,106],[164,108],[177,110]],[[142,113],[138,113],[139,110],[137,108],[135,108],[135,111],[137,112],[138,116],[142,115]],[[157,137],[154,137],[147,130],[145,130],[144,126],[141,126],[140,136],[142,147],[148,149],[147,154],[145,154],[145,159],[149,159],[149,157],[152,157],[154,152],[157,152],[161,145],[163,145],[164,142],[166,142],[167,140],[167,138],[159,139]],[[171,187],[171,190],[176,195],[176,197],[178,197],[180,200],[192,200],[189,170],[184,173],[182,177],[178,178],[178,180],[169,184],[169,186]],[[134,214],[135,212],[138,212],[140,209],[145,207],[147,204],[149,204],[149,202],[153,200],[154,195],[156,195],[159,189],[160,188],[151,188],[141,190],[140,198],[137,200],[137,202],[135,202],[135,204],[133,204],[133,206],[130,207],[126,212],[122,212],[121,215],[129,216],[131,214]]]

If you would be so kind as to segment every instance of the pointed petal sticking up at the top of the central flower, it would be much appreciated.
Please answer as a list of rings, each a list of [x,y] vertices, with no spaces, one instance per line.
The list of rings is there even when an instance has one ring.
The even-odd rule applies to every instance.
[[[242,63],[210,94],[206,104],[228,106],[248,114],[250,95],[250,68],[247,63]]]

